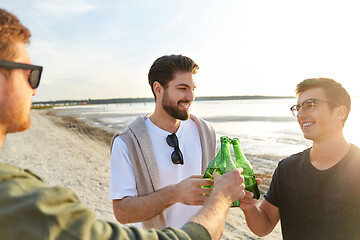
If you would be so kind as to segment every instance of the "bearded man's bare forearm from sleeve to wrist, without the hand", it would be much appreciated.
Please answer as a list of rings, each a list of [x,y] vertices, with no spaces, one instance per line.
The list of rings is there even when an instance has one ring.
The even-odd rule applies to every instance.
[[[114,200],[114,214],[122,224],[146,221],[173,205],[174,196],[172,186],[167,186],[146,196]]]

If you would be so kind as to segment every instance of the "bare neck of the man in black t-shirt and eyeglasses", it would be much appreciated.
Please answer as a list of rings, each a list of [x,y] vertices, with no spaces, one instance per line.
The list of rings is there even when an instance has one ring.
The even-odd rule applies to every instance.
[[[314,141],[310,150],[310,162],[319,170],[328,169],[338,163],[349,149],[350,144],[343,135],[321,142]]]

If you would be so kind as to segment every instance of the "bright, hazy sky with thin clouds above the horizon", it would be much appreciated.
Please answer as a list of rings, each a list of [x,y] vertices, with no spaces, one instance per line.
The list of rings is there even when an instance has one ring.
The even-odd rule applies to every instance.
[[[163,55],[200,69],[196,96],[294,96],[333,78],[360,96],[357,0],[1,0],[44,67],[34,101],[152,97]]]

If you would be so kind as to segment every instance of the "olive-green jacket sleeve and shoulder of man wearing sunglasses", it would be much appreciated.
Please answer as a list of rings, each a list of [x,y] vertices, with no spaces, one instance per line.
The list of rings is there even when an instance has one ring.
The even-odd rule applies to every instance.
[[[0,239],[210,239],[196,223],[146,231],[96,220],[69,188],[51,187],[18,170],[5,175],[0,174]]]

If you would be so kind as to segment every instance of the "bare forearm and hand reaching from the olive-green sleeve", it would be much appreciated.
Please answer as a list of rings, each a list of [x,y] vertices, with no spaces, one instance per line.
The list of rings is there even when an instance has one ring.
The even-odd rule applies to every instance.
[[[202,209],[190,222],[204,226],[211,239],[220,239],[232,202],[245,196],[242,169],[237,168],[222,176],[214,174],[214,189]]]

